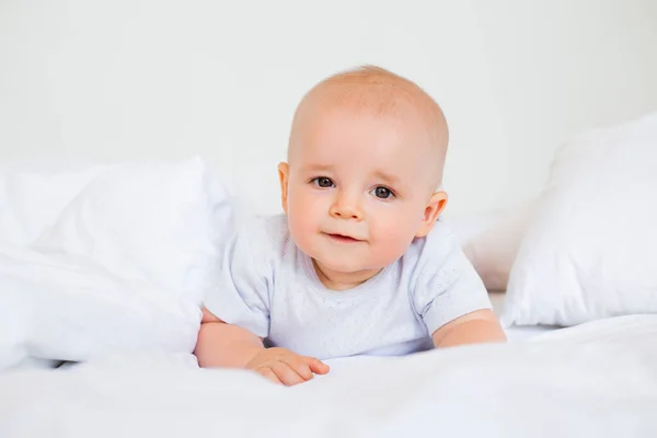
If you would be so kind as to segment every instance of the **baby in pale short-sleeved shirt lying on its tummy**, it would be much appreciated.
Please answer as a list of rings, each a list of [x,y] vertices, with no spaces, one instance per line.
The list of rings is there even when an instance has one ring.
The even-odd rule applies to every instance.
[[[278,165],[285,215],[244,224],[227,245],[199,365],[292,385],[328,372],[321,359],[504,342],[439,219],[447,143],[438,104],[384,69],[315,85]]]

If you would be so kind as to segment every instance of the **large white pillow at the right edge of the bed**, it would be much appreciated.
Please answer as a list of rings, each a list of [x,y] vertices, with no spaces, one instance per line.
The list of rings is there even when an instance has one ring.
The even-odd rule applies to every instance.
[[[562,148],[511,270],[503,322],[657,313],[657,114]]]

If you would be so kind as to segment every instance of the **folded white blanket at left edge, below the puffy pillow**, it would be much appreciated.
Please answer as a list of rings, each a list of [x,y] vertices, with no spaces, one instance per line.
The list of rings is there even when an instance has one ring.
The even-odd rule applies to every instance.
[[[199,322],[193,298],[89,258],[0,243],[0,370],[30,359],[192,351]]]

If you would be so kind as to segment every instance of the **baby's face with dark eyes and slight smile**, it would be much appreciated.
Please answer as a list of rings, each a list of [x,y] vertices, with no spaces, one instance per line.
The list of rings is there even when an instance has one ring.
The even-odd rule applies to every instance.
[[[376,272],[430,229],[437,166],[419,122],[336,106],[312,112],[291,141],[284,208],[321,269]]]

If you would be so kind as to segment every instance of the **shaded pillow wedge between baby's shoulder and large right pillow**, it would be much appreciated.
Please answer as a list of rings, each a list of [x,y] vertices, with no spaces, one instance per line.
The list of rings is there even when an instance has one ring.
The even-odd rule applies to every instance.
[[[486,289],[502,291],[507,288],[533,205],[533,201],[527,201],[510,208],[448,219]]]

